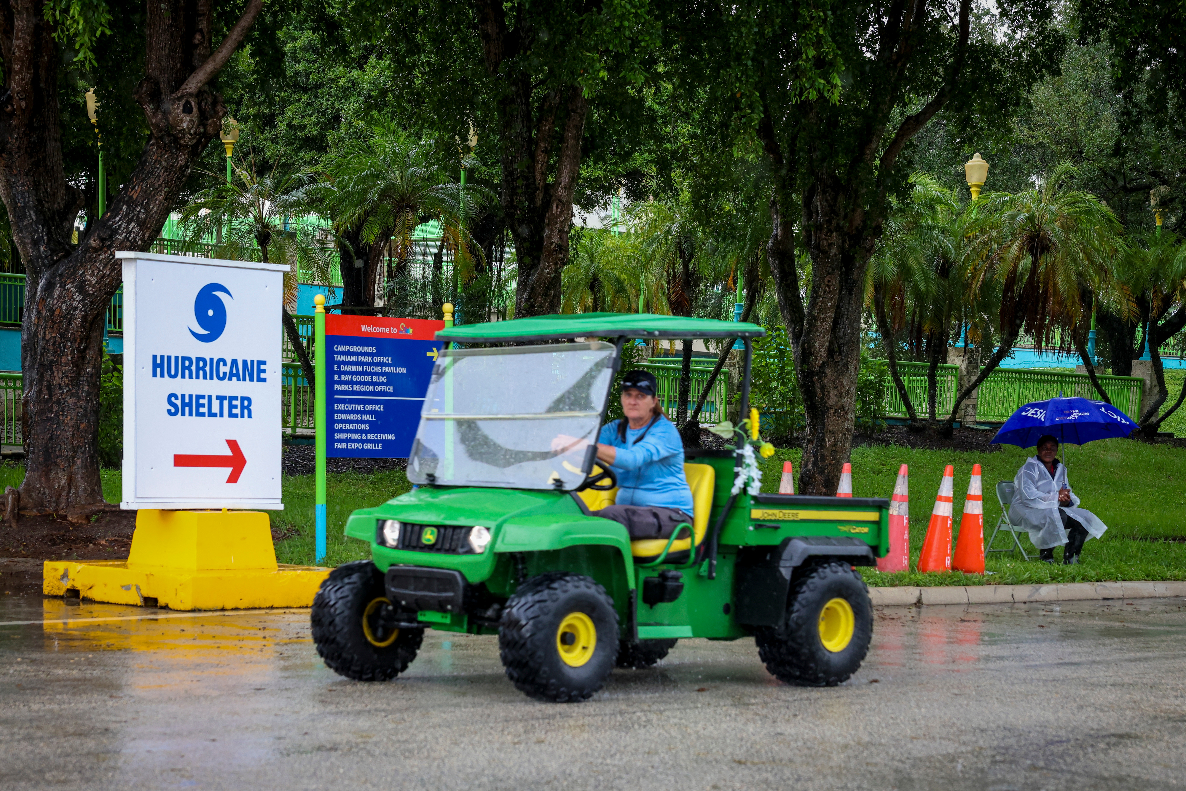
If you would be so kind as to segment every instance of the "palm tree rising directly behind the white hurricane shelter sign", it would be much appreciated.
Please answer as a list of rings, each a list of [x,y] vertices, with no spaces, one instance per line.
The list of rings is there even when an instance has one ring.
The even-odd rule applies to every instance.
[[[313,387],[313,364],[293,320],[301,279],[330,285],[333,244],[325,229],[312,224],[308,171],[256,172],[255,160],[241,161],[230,181],[218,173],[212,186],[198,192],[181,210],[183,238],[190,244],[219,237],[212,255],[230,260],[287,263],[282,320],[305,378]]]

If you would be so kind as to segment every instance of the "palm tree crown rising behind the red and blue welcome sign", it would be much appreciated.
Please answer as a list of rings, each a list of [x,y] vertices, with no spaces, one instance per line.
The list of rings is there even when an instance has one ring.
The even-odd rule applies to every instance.
[[[387,296],[396,312],[406,308],[400,283],[407,280],[413,232],[421,223],[435,219],[441,224],[459,282],[472,280],[478,273],[476,262],[485,261],[467,225],[493,196],[480,185],[463,190],[442,159],[434,140],[420,140],[389,122],[374,127],[366,140],[334,153],[326,161],[326,180],[317,190],[342,232],[357,234],[371,248],[390,240],[384,280],[394,292]],[[468,157],[460,164],[472,170],[478,162]],[[377,274],[369,269],[365,276]]]

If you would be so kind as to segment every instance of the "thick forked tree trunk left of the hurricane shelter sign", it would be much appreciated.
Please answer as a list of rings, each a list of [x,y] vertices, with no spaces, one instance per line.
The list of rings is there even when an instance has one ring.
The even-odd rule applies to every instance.
[[[58,113],[62,56],[44,4],[8,0],[0,14],[0,197],[26,266],[21,366],[26,473],[21,503],[64,511],[102,503],[98,376],[107,306],[122,280],[116,250],[147,250],[193,162],[222,128],[225,108],[206,83],[262,8],[250,0],[213,53],[211,4],[151,2],[146,75],[135,96],[145,151],[108,212],[70,242],[82,193],[65,179]]]

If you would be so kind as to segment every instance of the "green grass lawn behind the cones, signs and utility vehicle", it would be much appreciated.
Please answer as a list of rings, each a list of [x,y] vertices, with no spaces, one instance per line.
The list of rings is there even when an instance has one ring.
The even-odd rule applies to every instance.
[[[853,493],[856,497],[888,497],[893,492],[898,466],[910,465],[911,561],[917,562],[944,465],[955,465],[956,470],[957,531],[971,466],[981,465],[984,535],[988,537],[1001,513],[994,486],[997,480],[1012,480],[1026,455],[1015,447],[988,454],[912,451],[895,446],[854,448]],[[798,470],[799,457],[798,449],[780,449],[763,460],[763,490],[778,491],[783,461],[795,463]],[[1102,540],[1088,542],[1079,566],[1048,566],[1026,562],[1020,555],[994,553],[987,562],[991,574],[986,576],[917,572],[880,574],[866,569],[866,580],[875,586],[1186,580],[1186,517],[1182,515],[1181,493],[1186,481],[1186,451],[1129,440],[1103,440],[1082,448],[1067,446],[1066,464],[1083,506],[1099,516],[1109,528]],[[0,487],[19,485],[23,477],[21,466],[4,465],[0,467]],[[120,471],[104,470],[102,477],[108,502],[119,502]],[[402,471],[330,474],[327,486],[326,562],[330,566],[369,556],[366,544],[342,535],[351,511],[376,505],[412,489]],[[312,563],[313,476],[285,476],[283,502],[283,511],[272,512],[272,523],[273,527],[292,530],[294,535],[276,542],[276,559],[281,563]],[[1005,547],[1007,537],[997,536],[997,546]],[[1178,541],[1172,541],[1174,538]],[[1028,551],[1032,548],[1028,538],[1022,537],[1021,541]]]

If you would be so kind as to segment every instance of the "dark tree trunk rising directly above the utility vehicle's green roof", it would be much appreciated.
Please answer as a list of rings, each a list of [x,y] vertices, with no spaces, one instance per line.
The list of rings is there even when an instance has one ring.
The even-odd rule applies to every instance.
[[[518,261],[515,315],[559,313],[588,101],[576,84],[534,89],[527,6],[515,7],[514,30],[500,1],[478,0],[477,8],[486,68],[506,85],[498,101],[500,202]]]

